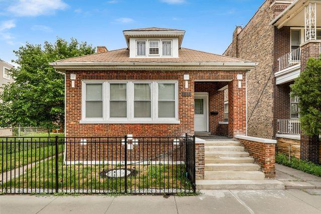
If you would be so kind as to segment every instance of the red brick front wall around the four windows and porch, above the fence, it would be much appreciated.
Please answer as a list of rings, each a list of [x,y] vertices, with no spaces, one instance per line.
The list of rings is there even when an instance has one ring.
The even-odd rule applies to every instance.
[[[75,87],[71,87],[70,74],[76,74]],[[189,73],[189,88],[185,88],[183,75]],[[245,72],[238,71],[67,71],[66,72],[66,136],[182,136],[185,133],[194,134],[194,80],[226,80],[230,82],[231,101],[229,104],[238,115],[231,115],[229,133],[245,132],[245,82],[242,88],[237,87],[236,75]],[[180,124],[80,124],[81,120],[81,81],[82,80],[178,80],[179,81],[179,120]],[[191,92],[192,96],[183,96],[181,92]],[[223,99],[223,92],[213,99]],[[221,101],[220,101],[221,102]],[[223,101],[222,101],[223,102]],[[215,103],[221,106],[223,103]],[[240,106],[244,105],[244,106]],[[216,108],[216,107],[215,107]],[[241,113],[241,111],[244,111]],[[231,112],[233,110],[231,109]],[[222,114],[223,117],[223,114]],[[230,118],[229,118],[230,119]],[[215,119],[218,122],[218,119]],[[242,120],[242,121],[239,121]],[[213,122],[213,124],[216,122]],[[213,126],[215,127],[215,126]]]

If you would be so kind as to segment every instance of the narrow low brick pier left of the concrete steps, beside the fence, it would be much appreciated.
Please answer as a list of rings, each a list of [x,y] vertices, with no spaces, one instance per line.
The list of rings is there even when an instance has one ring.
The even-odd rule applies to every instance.
[[[205,171],[205,144],[195,143],[196,179],[204,180]]]

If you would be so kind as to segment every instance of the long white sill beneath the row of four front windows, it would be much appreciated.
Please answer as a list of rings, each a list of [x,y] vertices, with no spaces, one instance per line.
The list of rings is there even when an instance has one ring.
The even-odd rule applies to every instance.
[[[80,120],[80,124],[180,124],[179,120]]]

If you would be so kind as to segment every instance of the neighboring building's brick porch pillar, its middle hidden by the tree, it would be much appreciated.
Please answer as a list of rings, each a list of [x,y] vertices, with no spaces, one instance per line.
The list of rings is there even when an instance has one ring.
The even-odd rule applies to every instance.
[[[320,41],[308,40],[301,45],[301,72],[306,68],[309,58],[318,58],[320,55]],[[300,138],[300,158],[302,160],[319,163],[319,137],[308,136],[301,133]]]

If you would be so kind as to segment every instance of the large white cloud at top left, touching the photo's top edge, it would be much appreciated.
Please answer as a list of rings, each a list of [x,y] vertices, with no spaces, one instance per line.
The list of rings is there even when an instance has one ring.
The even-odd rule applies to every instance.
[[[40,16],[54,14],[57,10],[63,10],[67,4],[62,0],[19,0],[8,8],[15,16]]]

